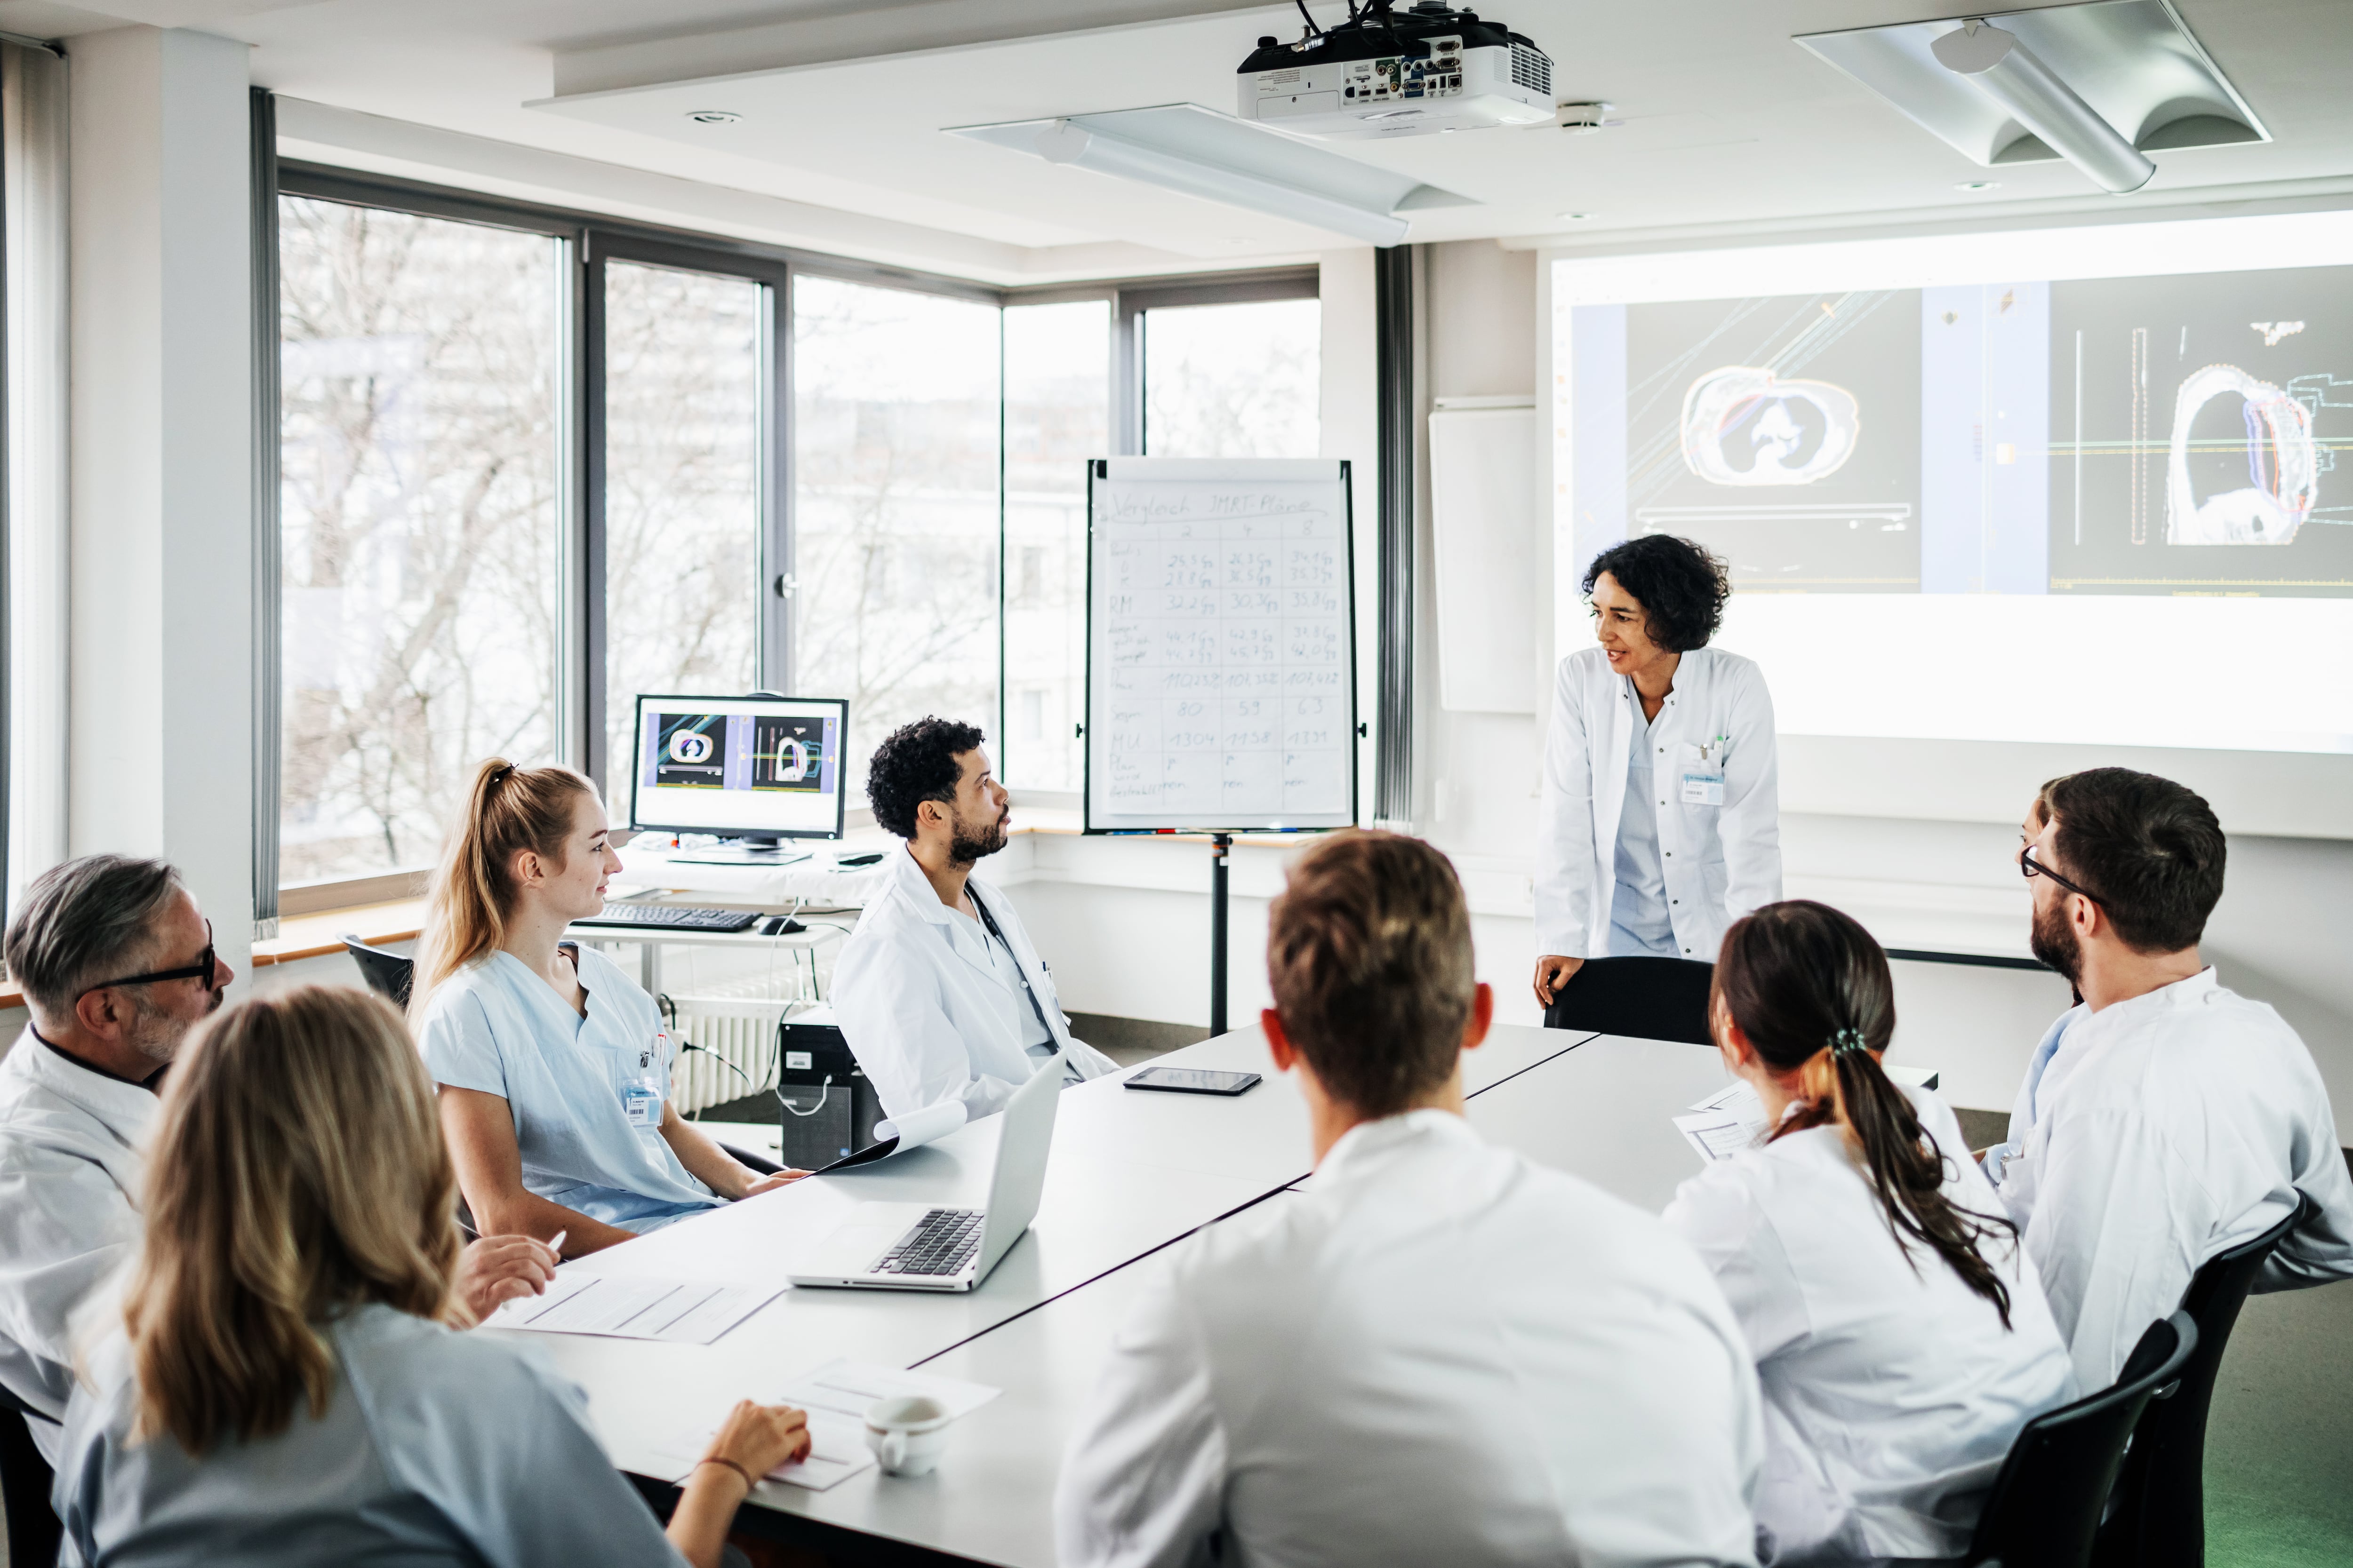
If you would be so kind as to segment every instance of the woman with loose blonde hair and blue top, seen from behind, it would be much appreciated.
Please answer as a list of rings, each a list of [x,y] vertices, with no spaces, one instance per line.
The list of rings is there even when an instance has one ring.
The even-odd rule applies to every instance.
[[[120,1321],[66,1408],[61,1563],[711,1568],[748,1479],[807,1453],[739,1403],[668,1526],[581,1392],[452,1333],[456,1178],[400,1018],[320,985],[242,1001],[181,1053]]]

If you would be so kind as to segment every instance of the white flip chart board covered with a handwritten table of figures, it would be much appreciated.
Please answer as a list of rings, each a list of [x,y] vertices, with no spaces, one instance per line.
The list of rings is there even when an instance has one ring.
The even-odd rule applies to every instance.
[[[1087,468],[1087,832],[1355,823],[1348,465]]]

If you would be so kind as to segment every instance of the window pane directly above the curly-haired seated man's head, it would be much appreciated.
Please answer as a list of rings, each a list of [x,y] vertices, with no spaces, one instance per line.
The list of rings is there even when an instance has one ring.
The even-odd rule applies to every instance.
[[[908,719],[998,741],[998,308],[795,277],[793,355],[793,684],[864,792]]]

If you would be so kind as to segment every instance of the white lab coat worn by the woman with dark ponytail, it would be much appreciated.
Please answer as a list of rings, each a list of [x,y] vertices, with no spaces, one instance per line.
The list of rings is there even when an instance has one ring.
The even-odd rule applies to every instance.
[[[1946,1157],[1944,1197],[2000,1215],[1953,1112],[1904,1091]],[[1925,1244],[1897,1244],[1838,1128],[1711,1164],[1666,1206],[1715,1274],[1765,1385],[1760,1556],[1772,1563],[1960,1556],[2009,1443],[2075,1375],[2009,1229],[1979,1255],[2009,1328]],[[1908,1251],[1908,1255],[1906,1255]]]

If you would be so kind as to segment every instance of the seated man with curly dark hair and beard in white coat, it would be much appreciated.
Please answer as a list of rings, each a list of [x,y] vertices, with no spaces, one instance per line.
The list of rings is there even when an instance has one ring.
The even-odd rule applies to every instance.
[[[1071,1037],[1021,914],[972,875],[1005,849],[1012,820],[981,741],[972,724],[918,719],[866,771],[875,823],[906,846],[842,943],[833,1013],[894,1121],[948,1103],[993,1117],[1033,1072],[1082,1081],[1118,1070]]]

